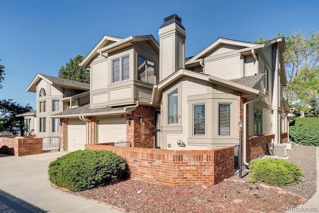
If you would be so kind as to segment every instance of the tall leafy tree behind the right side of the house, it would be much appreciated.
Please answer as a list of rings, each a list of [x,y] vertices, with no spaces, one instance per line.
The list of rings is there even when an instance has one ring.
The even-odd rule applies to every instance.
[[[283,36],[279,33],[278,36]],[[261,37],[255,42],[265,41]],[[319,32],[300,30],[286,36],[286,52],[283,54],[287,80],[284,88],[288,103],[295,114],[305,112],[306,117],[319,117]]]

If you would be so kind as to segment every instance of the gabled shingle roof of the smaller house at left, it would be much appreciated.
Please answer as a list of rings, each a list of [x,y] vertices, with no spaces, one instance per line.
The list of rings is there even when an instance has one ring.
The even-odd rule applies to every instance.
[[[90,90],[90,84],[83,83],[79,81],[69,80],[65,78],[58,78],[50,75],[44,75],[38,73],[28,87],[25,89],[27,92],[36,92],[36,85],[38,82],[43,79],[50,85],[61,85],[64,87],[74,88],[74,89],[81,89],[81,90]]]

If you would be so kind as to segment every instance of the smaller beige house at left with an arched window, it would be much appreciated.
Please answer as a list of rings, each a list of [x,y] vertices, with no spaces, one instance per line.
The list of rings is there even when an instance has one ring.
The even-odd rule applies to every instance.
[[[22,114],[26,135],[30,133],[37,137],[59,137],[60,121],[51,116],[89,103],[89,89],[90,85],[87,83],[37,74],[25,89],[36,93],[37,106],[36,110]],[[73,98],[74,95],[79,97]]]

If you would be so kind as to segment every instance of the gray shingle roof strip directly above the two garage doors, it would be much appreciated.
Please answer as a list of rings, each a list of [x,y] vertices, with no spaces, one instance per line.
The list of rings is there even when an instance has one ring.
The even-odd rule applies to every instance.
[[[90,104],[85,104],[73,109],[69,109],[63,112],[56,113],[54,115],[77,115],[77,114],[88,114],[88,113],[101,113],[101,112],[115,112],[123,111],[124,107],[112,107],[112,108],[100,108],[100,109],[90,109]],[[61,116],[63,117],[63,116]]]

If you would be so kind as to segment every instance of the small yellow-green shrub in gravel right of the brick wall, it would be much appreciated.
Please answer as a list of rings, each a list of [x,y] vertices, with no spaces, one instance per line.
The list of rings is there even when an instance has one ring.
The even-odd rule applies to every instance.
[[[295,185],[299,183],[300,176],[303,176],[301,169],[295,164],[273,158],[252,161],[248,172],[252,174],[248,182],[263,182],[273,187]]]

